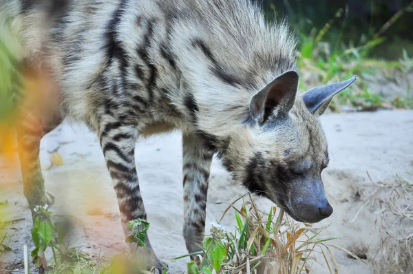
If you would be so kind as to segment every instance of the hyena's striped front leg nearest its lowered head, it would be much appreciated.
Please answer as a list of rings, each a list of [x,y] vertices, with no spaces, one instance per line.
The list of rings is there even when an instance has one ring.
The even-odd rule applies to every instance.
[[[209,170],[213,151],[196,134],[183,135],[184,238],[189,253],[200,251],[204,240]]]

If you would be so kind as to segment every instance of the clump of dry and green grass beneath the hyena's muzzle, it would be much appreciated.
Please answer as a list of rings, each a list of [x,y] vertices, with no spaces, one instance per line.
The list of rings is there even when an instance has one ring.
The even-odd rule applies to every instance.
[[[316,253],[324,257],[330,273],[339,273],[332,249],[340,249],[359,259],[354,253],[330,244],[335,238],[322,238],[320,234],[324,228],[297,223],[276,207],[265,213],[251,195],[242,198],[247,200],[240,209],[234,204],[241,198],[229,205],[222,215],[224,218],[229,209],[235,209],[236,232],[223,231],[219,224],[218,231],[216,227],[211,229],[204,243],[205,255],[198,255],[189,263],[189,273],[313,273]],[[211,244],[214,241],[215,244]],[[214,254],[211,249],[224,250],[218,267],[214,260],[220,253]]]

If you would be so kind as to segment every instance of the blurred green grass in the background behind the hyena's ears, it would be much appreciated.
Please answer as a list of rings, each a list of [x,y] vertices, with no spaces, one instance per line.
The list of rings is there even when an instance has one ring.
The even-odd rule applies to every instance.
[[[316,43],[311,38],[301,43],[299,51],[300,87],[303,91],[317,85],[325,85],[359,76],[348,89],[335,98],[330,109],[338,111],[340,105],[347,105],[356,110],[375,110],[413,107],[413,95],[410,92],[408,74],[413,72],[413,59],[405,53],[400,61],[381,61],[369,59],[368,52],[381,39],[371,41],[359,48],[342,48],[330,52],[328,43]],[[394,92],[391,84],[407,88]],[[385,92],[379,93],[378,86],[385,86]],[[376,89],[374,89],[374,87]],[[397,87],[400,89],[400,87]]]

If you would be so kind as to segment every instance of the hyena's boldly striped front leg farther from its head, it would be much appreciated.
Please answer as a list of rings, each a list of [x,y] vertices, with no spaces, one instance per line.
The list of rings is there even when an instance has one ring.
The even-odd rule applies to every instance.
[[[109,118],[105,119],[99,133],[107,169],[118,198],[123,231],[127,237],[131,235],[131,231],[127,228],[129,221],[147,220],[135,166],[136,127]],[[131,244],[129,247],[131,251],[135,251],[136,244]],[[155,266],[160,273],[166,266],[156,257],[148,237],[146,247],[138,248],[136,259],[145,264],[148,270]]]

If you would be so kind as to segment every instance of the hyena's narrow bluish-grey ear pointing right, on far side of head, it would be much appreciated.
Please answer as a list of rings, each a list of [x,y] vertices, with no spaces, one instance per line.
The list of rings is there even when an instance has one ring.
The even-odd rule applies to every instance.
[[[309,89],[307,92],[302,94],[306,107],[316,116],[324,114],[328,105],[330,105],[332,98],[342,90],[346,89],[346,87],[351,85],[354,81],[356,81],[356,79],[357,76],[353,76],[347,81]]]

